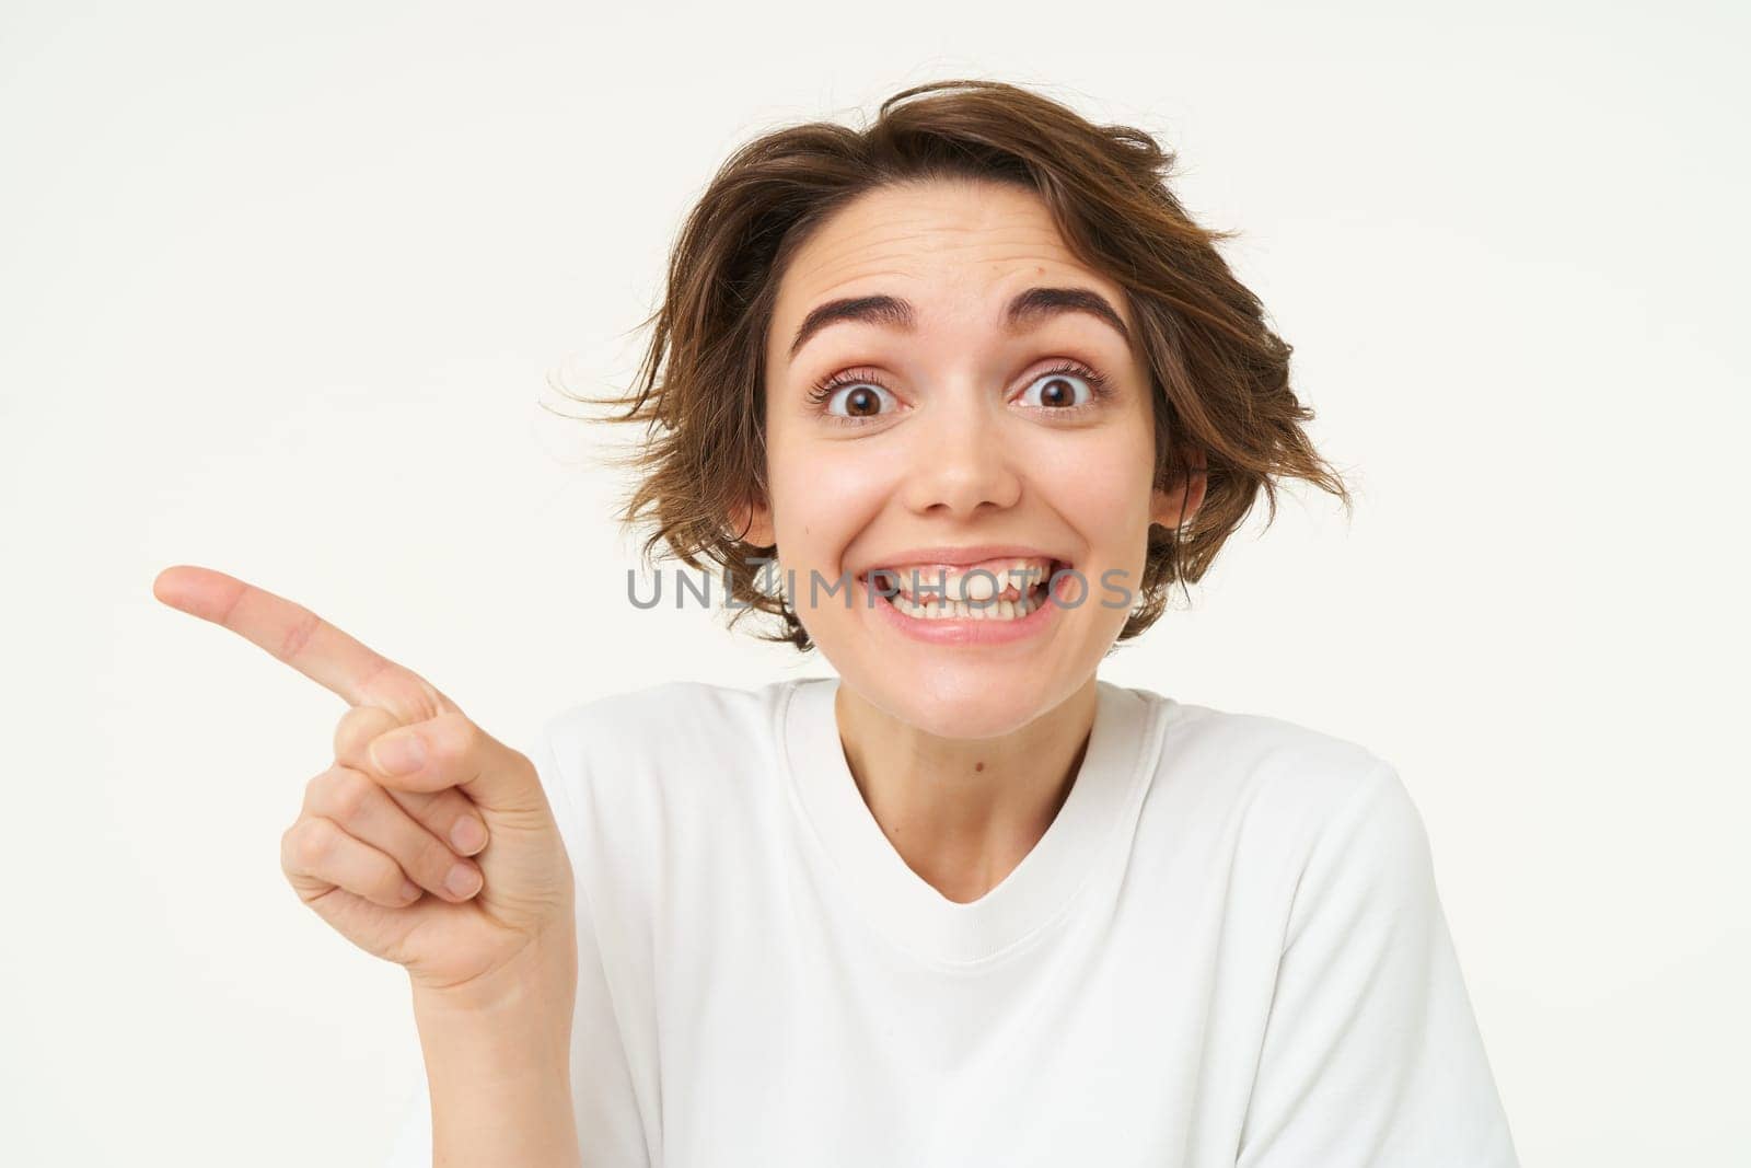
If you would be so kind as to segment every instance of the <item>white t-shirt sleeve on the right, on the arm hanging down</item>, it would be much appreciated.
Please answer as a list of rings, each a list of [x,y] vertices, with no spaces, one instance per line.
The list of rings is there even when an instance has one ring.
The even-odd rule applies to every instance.
[[[1422,818],[1378,774],[1296,886],[1236,1168],[1518,1168]]]

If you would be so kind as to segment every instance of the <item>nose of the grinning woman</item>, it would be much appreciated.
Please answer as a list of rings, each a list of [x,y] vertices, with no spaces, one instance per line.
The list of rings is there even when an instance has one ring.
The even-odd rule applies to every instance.
[[[1000,410],[975,387],[933,396],[928,415],[911,427],[900,492],[907,508],[972,517],[986,506],[1016,506],[1021,475]]]

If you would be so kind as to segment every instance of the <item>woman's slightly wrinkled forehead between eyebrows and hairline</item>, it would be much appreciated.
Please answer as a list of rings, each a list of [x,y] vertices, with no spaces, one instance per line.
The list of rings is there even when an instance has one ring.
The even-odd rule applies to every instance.
[[[881,187],[839,208],[791,256],[772,340],[825,299],[874,292],[916,303],[926,329],[944,319],[991,324],[1010,292],[1033,284],[1091,287],[1131,324],[1122,289],[1072,254],[1038,194],[967,179]]]

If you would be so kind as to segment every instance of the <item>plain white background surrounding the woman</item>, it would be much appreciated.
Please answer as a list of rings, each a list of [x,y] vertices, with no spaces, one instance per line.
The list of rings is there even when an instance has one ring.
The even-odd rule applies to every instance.
[[[630,380],[737,144],[979,75],[1178,151],[1359,496],[1103,676],[1399,767],[1529,1166],[1751,1163],[1744,11],[1415,7],[9,4],[0,1159],[371,1164],[420,1073],[278,869],[340,700],[161,567],[520,746],[830,672],[629,608],[548,376]]]

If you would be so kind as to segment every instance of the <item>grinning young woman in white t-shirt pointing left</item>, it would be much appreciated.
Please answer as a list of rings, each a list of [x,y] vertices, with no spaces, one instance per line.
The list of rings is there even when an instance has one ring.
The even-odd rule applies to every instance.
[[[622,518],[837,678],[608,697],[525,758],[159,576],[352,706],[284,867],[411,977],[406,1163],[1515,1163],[1392,765],[1098,678],[1261,490],[1348,501],[1170,165],[942,82],[692,212]]]

